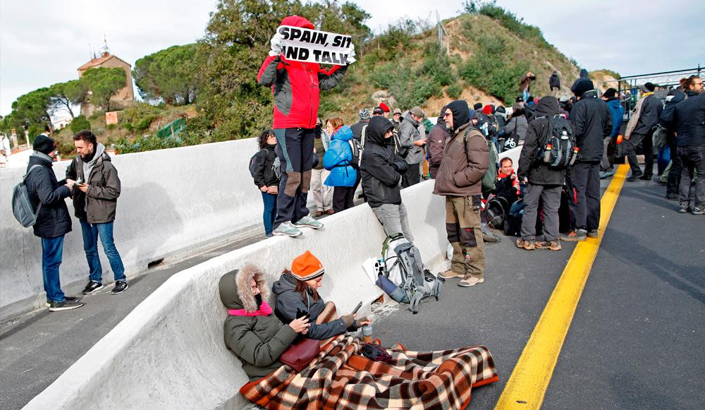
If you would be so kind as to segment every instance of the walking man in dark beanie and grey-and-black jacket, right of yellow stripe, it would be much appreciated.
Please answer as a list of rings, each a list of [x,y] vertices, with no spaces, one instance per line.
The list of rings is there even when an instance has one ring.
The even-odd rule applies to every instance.
[[[636,181],[644,179],[649,181],[651,174],[654,172],[654,127],[658,123],[658,117],[661,116],[663,106],[661,100],[654,96],[656,87],[651,83],[642,85],[642,99],[637,101],[636,106],[632,110],[632,118],[627,123],[627,129],[624,131],[624,139],[627,142],[625,150],[627,151],[627,160],[632,168],[632,174],[627,178],[627,181]],[[644,171],[639,168],[637,162],[637,147],[641,146],[644,152]]]

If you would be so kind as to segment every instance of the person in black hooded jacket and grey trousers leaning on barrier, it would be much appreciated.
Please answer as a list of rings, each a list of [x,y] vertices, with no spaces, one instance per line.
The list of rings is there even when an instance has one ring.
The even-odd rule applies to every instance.
[[[387,236],[403,233],[414,241],[409,229],[406,207],[401,201],[402,175],[409,164],[394,153],[394,125],[382,116],[369,120],[360,173],[367,203],[379,219]]]

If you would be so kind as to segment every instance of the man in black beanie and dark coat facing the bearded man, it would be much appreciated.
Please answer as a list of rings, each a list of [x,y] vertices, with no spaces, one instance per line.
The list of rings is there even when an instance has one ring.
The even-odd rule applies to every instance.
[[[59,266],[63,253],[63,237],[71,232],[71,215],[64,199],[71,196],[74,181],[56,181],[51,166],[56,157],[56,144],[47,135],[40,134],[32,145],[35,152],[27,164],[25,185],[32,209],[39,209],[32,229],[42,239],[42,277],[47,292],[49,310],[80,308],[78,298],[65,296],[61,291]]]

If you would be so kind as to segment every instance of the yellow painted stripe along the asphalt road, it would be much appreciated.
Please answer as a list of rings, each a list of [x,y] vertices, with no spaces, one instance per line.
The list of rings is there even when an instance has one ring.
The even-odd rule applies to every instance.
[[[541,318],[524,346],[512,375],[495,409],[539,409],[556,368],[558,354],[568,334],[575,308],[590,274],[592,263],[602,242],[602,236],[624,184],[629,166],[617,169],[610,186],[600,201],[599,238],[577,243],[575,250],[553,289]]]

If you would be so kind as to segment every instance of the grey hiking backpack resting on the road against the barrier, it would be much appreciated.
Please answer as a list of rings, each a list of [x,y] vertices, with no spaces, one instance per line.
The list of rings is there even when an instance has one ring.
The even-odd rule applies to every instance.
[[[376,263],[376,284],[392,299],[409,303],[412,313],[419,313],[419,305],[441,293],[443,279],[424,267],[419,249],[406,241],[403,234],[387,236],[382,254]]]

